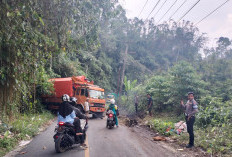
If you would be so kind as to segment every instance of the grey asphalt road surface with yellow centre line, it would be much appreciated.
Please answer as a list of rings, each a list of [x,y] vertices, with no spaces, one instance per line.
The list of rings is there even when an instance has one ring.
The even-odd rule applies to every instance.
[[[180,156],[175,151],[162,147],[130,128],[120,125],[107,129],[105,119],[89,120],[86,144],[83,150],[78,145],[64,153],[56,153],[53,141],[56,122],[36,136],[20,151],[17,157],[166,157]],[[142,134],[142,133],[141,133]],[[22,154],[24,152],[24,154]]]

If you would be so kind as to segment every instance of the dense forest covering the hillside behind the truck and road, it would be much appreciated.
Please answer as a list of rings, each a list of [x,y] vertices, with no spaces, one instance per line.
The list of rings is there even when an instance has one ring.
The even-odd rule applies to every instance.
[[[128,19],[117,0],[0,0],[0,8],[1,119],[41,111],[49,78],[86,75],[107,92],[124,82],[121,103],[131,112],[135,94],[143,110],[151,93],[154,111],[179,115],[193,91],[198,126],[223,127],[231,139],[231,39],[208,47],[190,21]]]

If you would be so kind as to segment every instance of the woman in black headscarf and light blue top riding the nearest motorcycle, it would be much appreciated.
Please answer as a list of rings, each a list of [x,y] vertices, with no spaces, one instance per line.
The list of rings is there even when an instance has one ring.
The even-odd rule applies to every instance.
[[[79,115],[80,117],[82,117],[81,113],[78,109],[73,109],[73,107],[71,106],[71,104],[69,103],[70,101],[70,97],[68,94],[64,94],[62,96],[62,103],[59,107],[59,111],[58,111],[58,123],[59,122],[65,122],[65,123],[70,123],[74,125],[74,129],[76,130],[76,136],[78,138],[80,138],[81,140],[81,146],[83,148],[86,148],[86,144],[84,144],[85,141],[85,135],[83,134],[82,128],[81,128],[81,123],[80,123],[80,119],[78,118]],[[79,112],[78,112],[79,111]],[[76,113],[78,117],[76,117]],[[84,116],[83,116],[84,117]]]

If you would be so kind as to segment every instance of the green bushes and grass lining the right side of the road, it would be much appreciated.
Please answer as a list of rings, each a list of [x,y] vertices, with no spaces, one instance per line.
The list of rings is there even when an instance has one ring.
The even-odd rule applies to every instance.
[[[227,75],[231,76],[232,72],[229,63],[226,63],[228,65],[219,73],[214,68],[220,68],[224,63],[221,59],[215,59],[215,62],[212,62],[212,69],[208,69],[212,75],[205,76],[207,74],[201,72],[201,67],[209,64],[208,61],[203,60],[201,65],[195,68],[190,63],[180,62],[167,72],[147,79],[121,97],[123,107],[134,113],[134,96],[139,95],[139,110],[146,112],[146,93],[151,93],[154,101],[154,118],[149,123],[152,129],[165,136],[174,136],[183,144],[188,142],[188,134],[165,132],[168,128],[174,129],[174,124],[180,120],[185,121],[180,100],[187,101],[188,91],[193,91],[199,103],[199,113],[195,122],[196,146],[202,147],[212,155],[231,154],[232,84],[228,84],[231,80]],[[213,77],[215,75],[217,78]]]

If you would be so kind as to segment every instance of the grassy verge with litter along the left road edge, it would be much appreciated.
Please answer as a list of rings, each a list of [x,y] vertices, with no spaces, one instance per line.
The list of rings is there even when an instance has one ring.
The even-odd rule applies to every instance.
[[[29,140],[39,133],[39,128],[54,118],[50,112],[18,115],[8,124],[0,124],[0,156],[4,156],[21,140]]]

